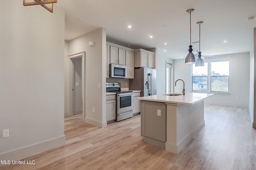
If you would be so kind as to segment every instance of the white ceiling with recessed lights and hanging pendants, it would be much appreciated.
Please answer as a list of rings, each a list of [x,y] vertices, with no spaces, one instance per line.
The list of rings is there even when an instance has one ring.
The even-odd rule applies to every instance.
[[[132,49],[156,47],[171,59],[188,54],[190,16],[186,10],[190,8],[195,9],[192,42],[199,41],[196,23],[204,21],[202,56],[249,52],[256,27],[256,18],[247,20],[256,16],[256,0],[59,0],[55,5],[65,9],[66,40],[104,27],[108,41]],[[196,53],[199,43],[192,45]]]

